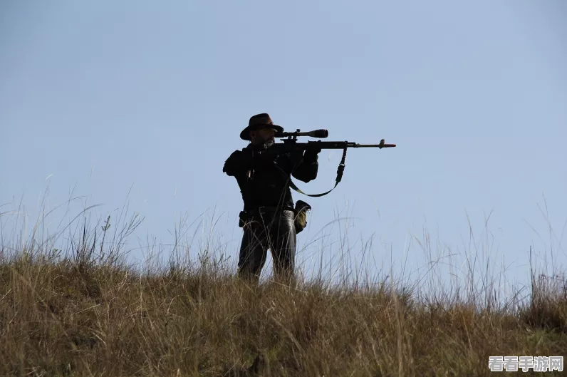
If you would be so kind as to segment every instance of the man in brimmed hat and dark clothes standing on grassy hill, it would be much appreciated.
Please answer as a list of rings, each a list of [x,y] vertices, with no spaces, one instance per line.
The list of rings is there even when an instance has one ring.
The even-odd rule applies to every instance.
[[[244,210],[239,226],[244,234],[240,246],[238,275],[256,284],[266,262],[268,249],[274,259],[276,279],[291,282],[296,257],[295,207],[290,177],[309,182],[317,177],[321,149],[271,153],[274,140],[284,131],[266,113],[250,118],[240,133],[249,145],[235,150],[224,163],[223,172],[235,177]]]

